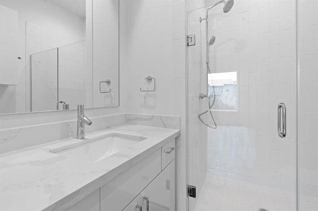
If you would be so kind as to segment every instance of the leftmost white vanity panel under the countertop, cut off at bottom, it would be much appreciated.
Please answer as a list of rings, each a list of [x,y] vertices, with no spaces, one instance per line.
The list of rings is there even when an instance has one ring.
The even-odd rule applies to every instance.
[[[99,211],[99,189],[73,205],[68,211]]]

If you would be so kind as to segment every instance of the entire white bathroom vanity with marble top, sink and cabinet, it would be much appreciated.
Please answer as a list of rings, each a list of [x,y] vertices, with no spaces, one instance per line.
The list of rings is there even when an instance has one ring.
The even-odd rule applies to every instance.
[[[179,134],[125,124],[1,154],[0,210],[173,211]]]

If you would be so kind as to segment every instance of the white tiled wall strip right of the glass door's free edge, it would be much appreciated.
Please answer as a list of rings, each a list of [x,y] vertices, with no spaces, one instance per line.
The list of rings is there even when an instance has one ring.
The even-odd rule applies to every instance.
[[[298,0],[298,167],[301,195],[318,197],[318,2]],[[300,200],[300,206],[303,202]]]

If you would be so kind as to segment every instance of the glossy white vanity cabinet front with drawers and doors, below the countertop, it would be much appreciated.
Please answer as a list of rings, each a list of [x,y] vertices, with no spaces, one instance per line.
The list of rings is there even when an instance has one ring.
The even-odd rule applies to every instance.
[[[175,140],[137,162],[68,211],[174,211]]]

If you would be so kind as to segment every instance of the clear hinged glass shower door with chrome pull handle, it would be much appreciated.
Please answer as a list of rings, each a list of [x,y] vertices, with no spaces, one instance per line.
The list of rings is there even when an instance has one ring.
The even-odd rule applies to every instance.
[[[209,7],[187,13],[196,38],[187,48],[187,184],[197,193],[188,210],[296,210],[296,2],[235,0],[227,13],[221,4],[208,12],[208,39]],[[211,127],[198,118],[209,101],[202,120]]]

